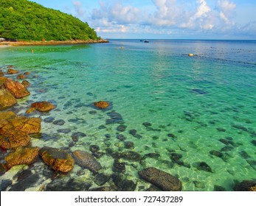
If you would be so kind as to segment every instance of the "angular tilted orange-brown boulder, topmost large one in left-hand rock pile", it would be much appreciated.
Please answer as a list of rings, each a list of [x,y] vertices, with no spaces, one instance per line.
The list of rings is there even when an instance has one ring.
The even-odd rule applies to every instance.
[[[30,92],[27,90],[27,88],[25,88],[24,85],[21,85],[20,82],[15,82],[12,79],[7,78],[6,82],[4,82],[4,85],[7,90],[10,90],[10,93],[12,93],[16,99],[21,99],[30,95]]]

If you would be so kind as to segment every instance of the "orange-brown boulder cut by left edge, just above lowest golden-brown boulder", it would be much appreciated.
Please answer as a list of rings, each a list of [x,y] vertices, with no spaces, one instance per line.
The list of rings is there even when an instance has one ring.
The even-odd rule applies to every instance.
[[[0,134],[0,146],[4,149],[27,146],[28,143],[30,143],[30,136],[27,135],[27,132],[7,130],[3,134]]]

